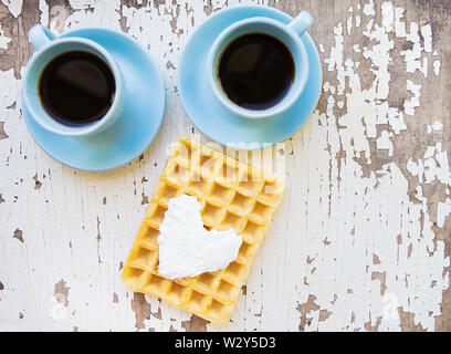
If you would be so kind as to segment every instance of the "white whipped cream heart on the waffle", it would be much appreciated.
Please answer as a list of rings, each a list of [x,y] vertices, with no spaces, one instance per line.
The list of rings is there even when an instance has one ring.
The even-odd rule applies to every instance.
[[[168,202],[158,236],[158,272],[167,279],[196,277],[224,269],[241,246],[241,237],[230,228],[206,230],[196,197],[181,195]]]

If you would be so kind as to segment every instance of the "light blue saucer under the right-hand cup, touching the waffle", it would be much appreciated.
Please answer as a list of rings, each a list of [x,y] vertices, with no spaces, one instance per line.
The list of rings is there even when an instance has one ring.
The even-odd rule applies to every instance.
[[[262,6],[221,10],[210,15],[191,35],[178,69],[180,100],[192,124],[210,139],[238,149],[266,147],[296,133],[316,107],[323,77],[318,52],[305,33],[302,41],[311,67],[308,80],[300,100],[287,112],[268,119],[247,119],[226,110],[209,86],[206,70],[208,51],[224,28],[250,17],[268,17],[283,23],[293,20],[282,11]]]

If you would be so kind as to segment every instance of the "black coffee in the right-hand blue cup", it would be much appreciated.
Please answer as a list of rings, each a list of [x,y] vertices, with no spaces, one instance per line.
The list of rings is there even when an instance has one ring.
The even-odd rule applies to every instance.
[[[249,110],[266,110],[289,92],[294,80],[294,62],[289,49],[276,38],[250,33],[226,48],[218,75],[232,102]]]

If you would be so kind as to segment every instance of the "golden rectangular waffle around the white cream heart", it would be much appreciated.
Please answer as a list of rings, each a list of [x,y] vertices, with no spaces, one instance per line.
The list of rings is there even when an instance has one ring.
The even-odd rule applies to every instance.
[[[213,323],[227,322],[283,189],[281,181],[262,170],[180,137],[171,148],[125,261],[120,275],[125,287]],[[242,237],[237,259],[226,269],[177,280],[158,274],[158,228],[168,200],[181,194],[198,198],[207,229],[233,227]]]

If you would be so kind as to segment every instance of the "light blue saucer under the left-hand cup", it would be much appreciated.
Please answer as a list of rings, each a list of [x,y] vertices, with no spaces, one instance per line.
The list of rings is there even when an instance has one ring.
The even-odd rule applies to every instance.
[[[63,165],[101,171],[123,166],[143,154],[165,117],[165,84],[157,64],[132,38],[107,29],[81,29],[61,37],[82,37],[104,46],[124,77],[123,116],[94,137],[64,137],[42,128],[23,106],[27,126],[42,149]]]

